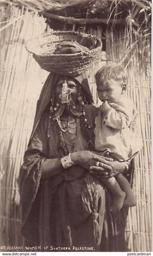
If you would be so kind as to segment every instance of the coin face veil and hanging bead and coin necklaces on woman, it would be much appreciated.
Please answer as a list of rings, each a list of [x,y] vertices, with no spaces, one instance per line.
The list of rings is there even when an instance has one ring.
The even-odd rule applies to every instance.
[[[78,105],[76,105],[71,98],[71,90],[68,89],[68,84],[66,80],[64,80],[64,83],[62,84],[62,91],[59,94],[59,100],[56,103],[54,103],[54,95],[52,95],[50,102],[51,105],[48,120],[47,138],[50,138],[51,120],[55,120],[59,127],[60,141],[63,150],[66,150],[66,145],[64,143],[62,132],[67,132],[68,137],[71,140],[76,138],[76,121],[74,117],[83,116],[83,119],[85,121],[85,127],[87,128],[87,130],[91,129],[89,122],[90,115],[86,108],[86,99],[83,96],[82,88],[80,86],[78,89]],[[63,121],[63,118],[61,119],[61,116],[66,106],[69,108],[69,111],[74,117],[70,116],[68,120]],[[86,132],[88,133],[88,131]]]

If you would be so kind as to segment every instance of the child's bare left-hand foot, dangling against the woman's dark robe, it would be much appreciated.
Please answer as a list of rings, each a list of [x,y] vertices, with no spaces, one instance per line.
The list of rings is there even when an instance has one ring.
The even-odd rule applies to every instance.
[[[110,211],[120,211],[123,206],[125,196],[126,194],[123,191],[120,194],[114,195],[113,204],[110,207]]]

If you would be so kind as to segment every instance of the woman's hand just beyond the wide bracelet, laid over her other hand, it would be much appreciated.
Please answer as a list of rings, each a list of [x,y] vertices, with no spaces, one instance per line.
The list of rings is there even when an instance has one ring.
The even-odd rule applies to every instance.
[[[101,162],[101,171],[105,170],[112,170],[112,167],[110,166],[110,162],[113,161],[113,159],[108,157],[103,157],[101,155],[97,155],[91,151],[88,150],[82,150],[77,151],[74,153],[71,153],[71,160],[74,162],[75,165],[81,165],[83,168],[90,170],[90,167],[95,165],[97,161]],[[104,173],[105,176],[105,173]]]

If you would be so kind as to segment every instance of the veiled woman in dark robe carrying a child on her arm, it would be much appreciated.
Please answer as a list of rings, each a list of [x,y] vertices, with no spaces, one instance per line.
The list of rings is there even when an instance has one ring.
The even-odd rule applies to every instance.
[[[42,250],[126,251],[125,218],[109,211],[111,196],[99,177],[123,172],[127,162],[94,152],[97,109],[92,103],[85,74],[52,73],[40,95],[20,170],[20,197],[22,234]]]

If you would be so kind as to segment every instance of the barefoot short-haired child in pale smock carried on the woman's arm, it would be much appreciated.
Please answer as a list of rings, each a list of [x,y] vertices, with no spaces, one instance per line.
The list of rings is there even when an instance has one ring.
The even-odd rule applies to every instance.
[[[142,138],[136,107],[125,96],[127,76],[118,65],[105,65],[95,79],[103,102],[95,119],[95,149],[107,150],[114,160],[132,159],[142,147]],[[121,173],[102,182],[114,195],[111,211],[120,211],[123,204],[136,205],[132,188]]]

